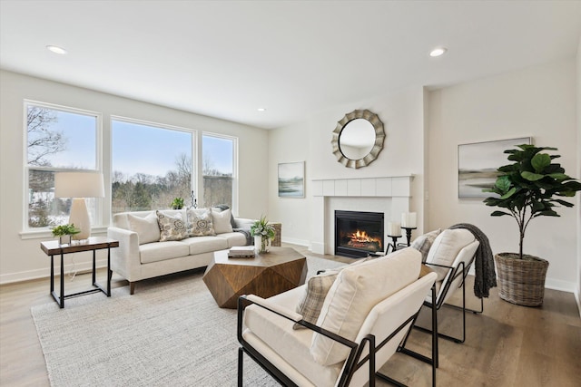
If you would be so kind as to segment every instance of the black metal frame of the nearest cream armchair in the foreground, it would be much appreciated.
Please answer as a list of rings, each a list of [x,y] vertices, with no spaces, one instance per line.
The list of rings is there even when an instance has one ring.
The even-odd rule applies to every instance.
[[[435,297],[435,295],[436,295],[436,286],[435,285],[432,285],[431,292],[432,292],[432,297]],[[281,317],[284,317],[288,320],[294,321],[290,317],[283,315],[277,311],[271,310],[270,308],[268,308],[264,305],[259,305],[259,304],[253,303],[245,295],[241,295],[241,297],[239,297],[239,299],[238,299],[237,335],[238,335],[238,341],[239,341],[239,343],[241,343],[241,346],[238,349],[238,386],[242,387],[242,385],[243,385],[242,366],[243,366],[243,354],[244,353],[246,353],[248,356],[250,356],[250,358],[255,363],[258,363],[264,371],[268,372],[272,376],[272,378],[274,378],[282,386],[290,386],[290,387],[297,386],[297,384],[295,382],[292,382],[291,379],[287,375],[285,375],[283,372],[281,372],[281,370],[279,370],[274,364],[269,362],[264,356],[262,356],[262,354],[260,352],[258,352],[251,345],[251,343],[248,343],[242,337],[243,313],[244,313],[244,309],[249,305],[258,305],[261,308],[269,310],[273,314],[278,314]],[[421,306],[420,306],[420,309],[421,309]],[[416,314],[409,316],[409,318],[403,324],[399,325],[398,329],[396,329],[394,332],[389,334],[389,336],[379,344],[376,344],[375,336],[373,334],[368,334],[361,341],[361,343],[358,344],[358,343],[354,343],[354,342],[352,342],[352,341],[350,341],[350,340],[348,340],[348,339],[346,339],[338,334],[333,334],[330,331],[327,331],[323,328],[320,328],[320,326],[317,326],[315,324],[310,324],[310,323],[305,322],[303,320],[300,320],[296,323],[303,325],[304,327],[306,327],[307,329],[310,329],[313,332],[327,336],[331,340],[334,340],[334,341],[341,343],[341,344],[350,348],[350,354],[347,357],[347,360],[345,361],[346,364],[343,367],[343,371],[340,374],[340,382],[337,384],[340,387],[348,386],[350,384],[351,378],[353,377],[353,374],[357,370],[359,370],[359,368],[361,366],[363,366],[366,362],[369,362],[369,387],[375,387],[375,377],[376,376],[379,379],[382,379],[386,382],[390,382],[390,383],[397,385],[399,387],[405,387],[405,384],[402,384],[401,382],[398,382],[398,381],[390,378],[389,376],[387,376],[381,372],[374,372],[374,370],[376,368],[375,355],[386,343],[389,343],[389,341],[391,339],[393,339],[393,337],[395,337],[396,334],[398,334],[402,329],[404,329],[406,327],[406,325],[411,323],[409,326],[408,332],[405,334],[402,342],[399,343],[399,347],[398,347],[397,352],[408,354],[409,356],[412,356],[412,357],[414,357],[414,358],[416,358],[424,363],[430,364],[432,366],[432,386],[435,386],[436,385],[436,368],[438,367],[438,331],[437,331],[437,329],[438,329],[438,321],[437,321],[438,314],[435,310],[432,311],[432,324],[433,324],[433,326],[436,327],[436,330],[434,330],[432,332],[431,357],[424,356],[420,353],[416,353],[414,351],[411,351],[411,350],[405,348],[405,345],[406,345],[408,338],[409,338],[409,334],[411,333],[411,328],[414,326],[416,319],[418,318],[418,315],[419,315],[419,310],[418,310],[418,312],[416,312]],[[362,357],[362,353],[363,353],[363,350],[365,349],[366,344],[369,344],[369,354]]]

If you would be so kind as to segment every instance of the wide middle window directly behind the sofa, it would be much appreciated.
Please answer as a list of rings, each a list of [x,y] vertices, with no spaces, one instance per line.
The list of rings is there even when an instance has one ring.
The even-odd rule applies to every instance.
[[[111,128],[113,214],[190,204],[192,131],[121,118]]]

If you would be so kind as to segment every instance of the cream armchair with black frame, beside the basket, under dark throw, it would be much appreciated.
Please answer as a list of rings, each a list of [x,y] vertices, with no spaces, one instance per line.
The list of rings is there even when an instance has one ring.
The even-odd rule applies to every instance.
[[[462,334],[460,337],[454,337],[448,334],[436,332],[438,336],[452,340],[456,343],[464,343],[466,340],[466,286],[465,280],[468,276],[468,269],[474,262],[474,257],[479,246],[478,240],[474,235],[464,228],[445,229],[435,238],[433,244],[429,247],[428,256],[426,259],[426,266],[436,271],[438,278],[436,279],[436,297],[428,295],[424,305],[429,308],[440,309],[442,305],[448,305],[449,298],[456,293],[458,289],[462,289],[462,306],[459,309],[462,311]],[[482,299],[480,299],[482,302]],[[454,305],[450,305],[454,306]],[[482,312],[483,304],[481,304],[480,311],[472,311],[474,313]],[[432,323],[434,324],[434,323]],[[435,324],[438,324],[436,320]],[[431,329],[420,327],[416,328],[431,332]]]

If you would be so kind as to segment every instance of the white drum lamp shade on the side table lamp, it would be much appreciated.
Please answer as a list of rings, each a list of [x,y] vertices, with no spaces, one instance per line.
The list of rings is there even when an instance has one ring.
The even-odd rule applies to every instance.
[[[55,198],[104,198],[103,173],[57,172],[54,174]]]

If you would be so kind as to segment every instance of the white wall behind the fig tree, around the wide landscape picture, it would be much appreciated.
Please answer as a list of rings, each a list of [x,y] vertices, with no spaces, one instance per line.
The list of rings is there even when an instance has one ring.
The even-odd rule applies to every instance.
[[[537,146],[558,148],[566,172],[578,168],[576,64],[573,59],[464,82],[430,92],[428,228],[468,222],[480,227],[495,253],[517,251],[513,218],[491,218],[494,208],[458,199],[458,144],[532,136]],[[560,218],[537,218],[527,228],[527,254],[549,261],[547,287],[578,287],[579,207],[558,208]]]

